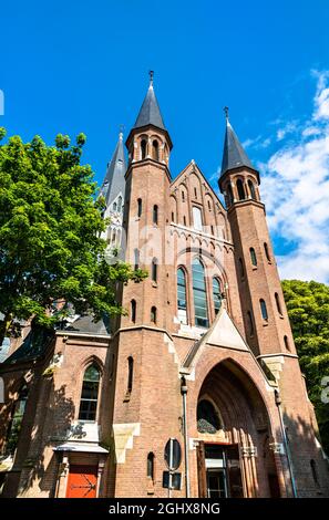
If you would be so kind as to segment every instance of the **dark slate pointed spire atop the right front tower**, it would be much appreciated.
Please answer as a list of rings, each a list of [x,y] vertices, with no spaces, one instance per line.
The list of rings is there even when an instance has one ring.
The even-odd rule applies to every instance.
[[[224,175],[229,169],[239,168],[241,166],[256,170],[229,123],[228,106],[224,107],[224,112],[226,117],[226,134],[220,175]]]

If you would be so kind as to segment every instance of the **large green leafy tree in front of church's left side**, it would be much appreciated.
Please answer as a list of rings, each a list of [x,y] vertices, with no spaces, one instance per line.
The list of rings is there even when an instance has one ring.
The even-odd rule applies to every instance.
[[[0,139],[6,132],[0,128]],[[55,146],[35,136],[0,145],[0,344],[18,321],[52,326],[64,315],[58,301],[76,313],[124,313],[116,300],[117,282],[141,281],[145,273],[124,262],[107,264],[104,199],[89,165],[81,165],[85,136],[71,145],[58,135]]]

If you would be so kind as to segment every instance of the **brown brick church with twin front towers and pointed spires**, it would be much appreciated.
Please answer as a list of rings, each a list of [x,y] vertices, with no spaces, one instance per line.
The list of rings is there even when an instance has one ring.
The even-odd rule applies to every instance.
[[[194,160],[172,179],[152,75],[125,146],[104,238],[148,278],[117,287],[126,315],[72,310],[2,345],[2,497],[328,497],[259,173],[227,111],[225,207]]]

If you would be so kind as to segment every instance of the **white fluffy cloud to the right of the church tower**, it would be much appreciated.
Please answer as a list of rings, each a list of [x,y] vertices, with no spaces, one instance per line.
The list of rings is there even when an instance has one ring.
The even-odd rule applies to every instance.
[[[311,121],[282,126],[282,139],[290,131],[296,135],[261,165],[261,191],[271,231],[297,243],[278,257],[281,278],[329,283],[329,73],[313,75]]]

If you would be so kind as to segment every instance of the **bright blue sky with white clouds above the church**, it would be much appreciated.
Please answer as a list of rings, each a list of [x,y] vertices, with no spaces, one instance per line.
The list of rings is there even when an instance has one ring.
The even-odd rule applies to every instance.
[[[281,275],[329,281],[327,0],[18,0],[1,6],[0,23],[9,135],[51,144],[84,132],[101,181],[153,69],[172,175],[194,158],[216,186],[228,105],[263,174]]]

